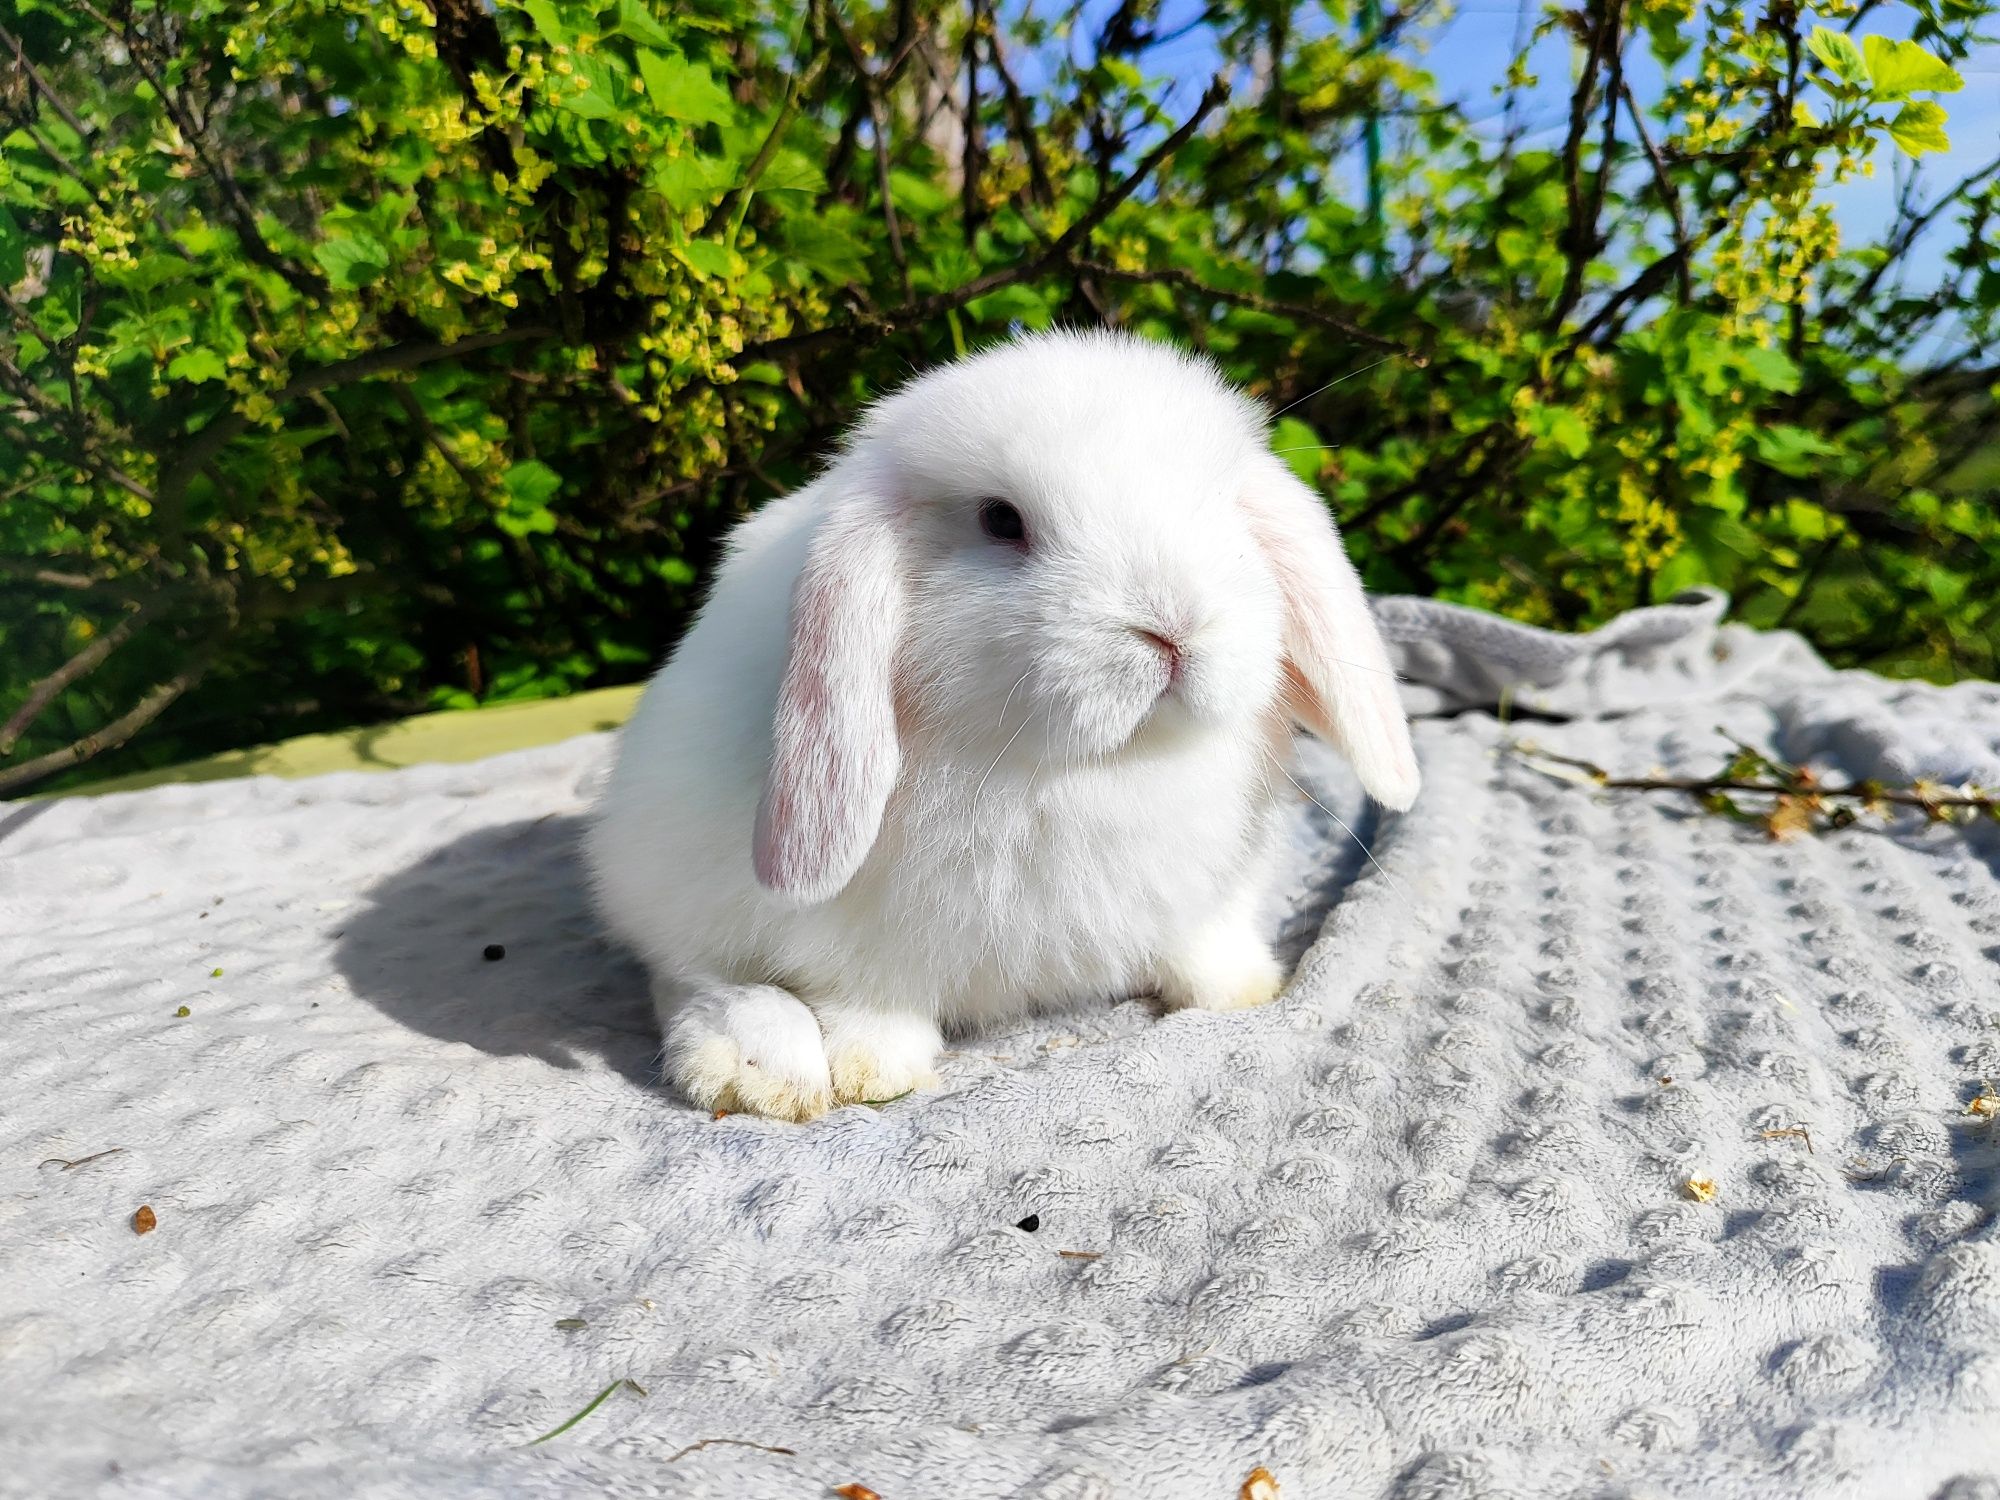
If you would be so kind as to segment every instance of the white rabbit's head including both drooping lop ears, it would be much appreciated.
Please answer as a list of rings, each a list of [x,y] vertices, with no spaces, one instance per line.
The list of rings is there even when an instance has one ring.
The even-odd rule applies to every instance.
[[[756,870],[838,892],[906,756],[1114,770],[1284,710],[1416,796],[1394,674],[1324,502],[1202,360],[1046,334],[876,404],[820,480]]]

